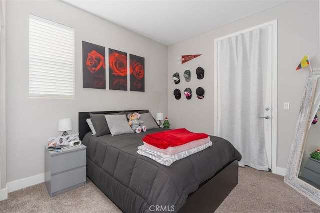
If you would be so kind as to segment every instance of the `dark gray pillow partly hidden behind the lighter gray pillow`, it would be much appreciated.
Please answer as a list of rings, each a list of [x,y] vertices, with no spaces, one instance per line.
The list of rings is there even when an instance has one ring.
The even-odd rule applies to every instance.
[[[113,114],[124,114],[124,112],[113,113]],[[96,136],[102,136],[105,134],[110,134],[110,129],[108,123],[105,120],[104,115],[111,115],[111,114],[93,114],[90,113],[90,119],[93,124],[93,127],[96,131]]]

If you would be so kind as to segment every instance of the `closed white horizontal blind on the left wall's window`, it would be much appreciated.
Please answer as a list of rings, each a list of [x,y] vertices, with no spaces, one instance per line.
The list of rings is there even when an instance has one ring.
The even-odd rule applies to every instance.
[[[74,97],[74,29],[29,15],[30,97]]]

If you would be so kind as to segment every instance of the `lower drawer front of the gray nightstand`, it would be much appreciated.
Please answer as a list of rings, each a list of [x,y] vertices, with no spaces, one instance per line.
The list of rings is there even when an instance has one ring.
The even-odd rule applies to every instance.
[[[51,176],[51,193],[86,181],[86,166]]]

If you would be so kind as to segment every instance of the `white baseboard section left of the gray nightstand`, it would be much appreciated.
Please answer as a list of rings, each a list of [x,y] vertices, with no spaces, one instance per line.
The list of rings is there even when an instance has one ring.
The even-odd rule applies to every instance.
[[[7,183],[8,193],[44,182],[44,173]],[[1,196],[2,198],[2,196]]]

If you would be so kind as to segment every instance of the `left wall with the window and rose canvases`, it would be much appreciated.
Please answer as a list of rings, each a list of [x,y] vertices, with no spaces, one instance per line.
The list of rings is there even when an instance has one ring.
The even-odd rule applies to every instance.
[[[29,98],[29,13],[75,29],[74,99]],[[1,174],[6,172],[7,183],[42,178],[44,145],[61,134],[59,118],[72,118],[72,134],[78,133],[80,111],[149,109],[153,116],[167,114],[167,46],[58,0],[7,1],[6,25],[6,171]],[[144,57],[145,92],[82,88],[82,41],[104,46],[106,55],[112,48]],[[106,76],[108,82],[108,72]]]

